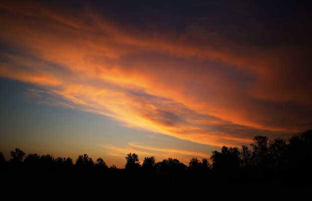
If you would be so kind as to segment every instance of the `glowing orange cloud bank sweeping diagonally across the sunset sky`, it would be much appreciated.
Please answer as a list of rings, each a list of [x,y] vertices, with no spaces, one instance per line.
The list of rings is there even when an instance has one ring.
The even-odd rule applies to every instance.
[[[92,3],[7,1],[0,9],[0,75],[32,84],[29,96],[55,98],[41,104],[214,146],[311,128],[306,21],[269,27],[244,19],[244,6],[177,19],[183,26],[159,10],[134,23]]]

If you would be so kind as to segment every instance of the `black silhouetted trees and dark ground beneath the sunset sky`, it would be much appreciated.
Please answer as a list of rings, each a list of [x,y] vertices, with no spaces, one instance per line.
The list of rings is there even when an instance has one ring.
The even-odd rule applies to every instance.
[[[87,154],[75,162],[26,155],[19,148],[10,155],[7,161],[0,152],[3,193],[15,192],[10,200],[107,200],[112,195],[114,200],[298,199],[310,195],[312,186],[312,130],[287,141],[257,135],[250,148],[223,146],[212,152],[211,164],[205,158],[192,158],[188,164],[174,158],[156,162],[154,156],[141,164],[137,154],[128,153],[125,168],[118,169]]]

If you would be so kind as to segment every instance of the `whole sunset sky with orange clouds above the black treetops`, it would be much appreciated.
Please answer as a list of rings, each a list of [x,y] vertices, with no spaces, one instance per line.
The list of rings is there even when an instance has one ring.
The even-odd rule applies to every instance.
[[[287,0],[0,2],[0,152],[124,168],[312,129],[312,13]]]

